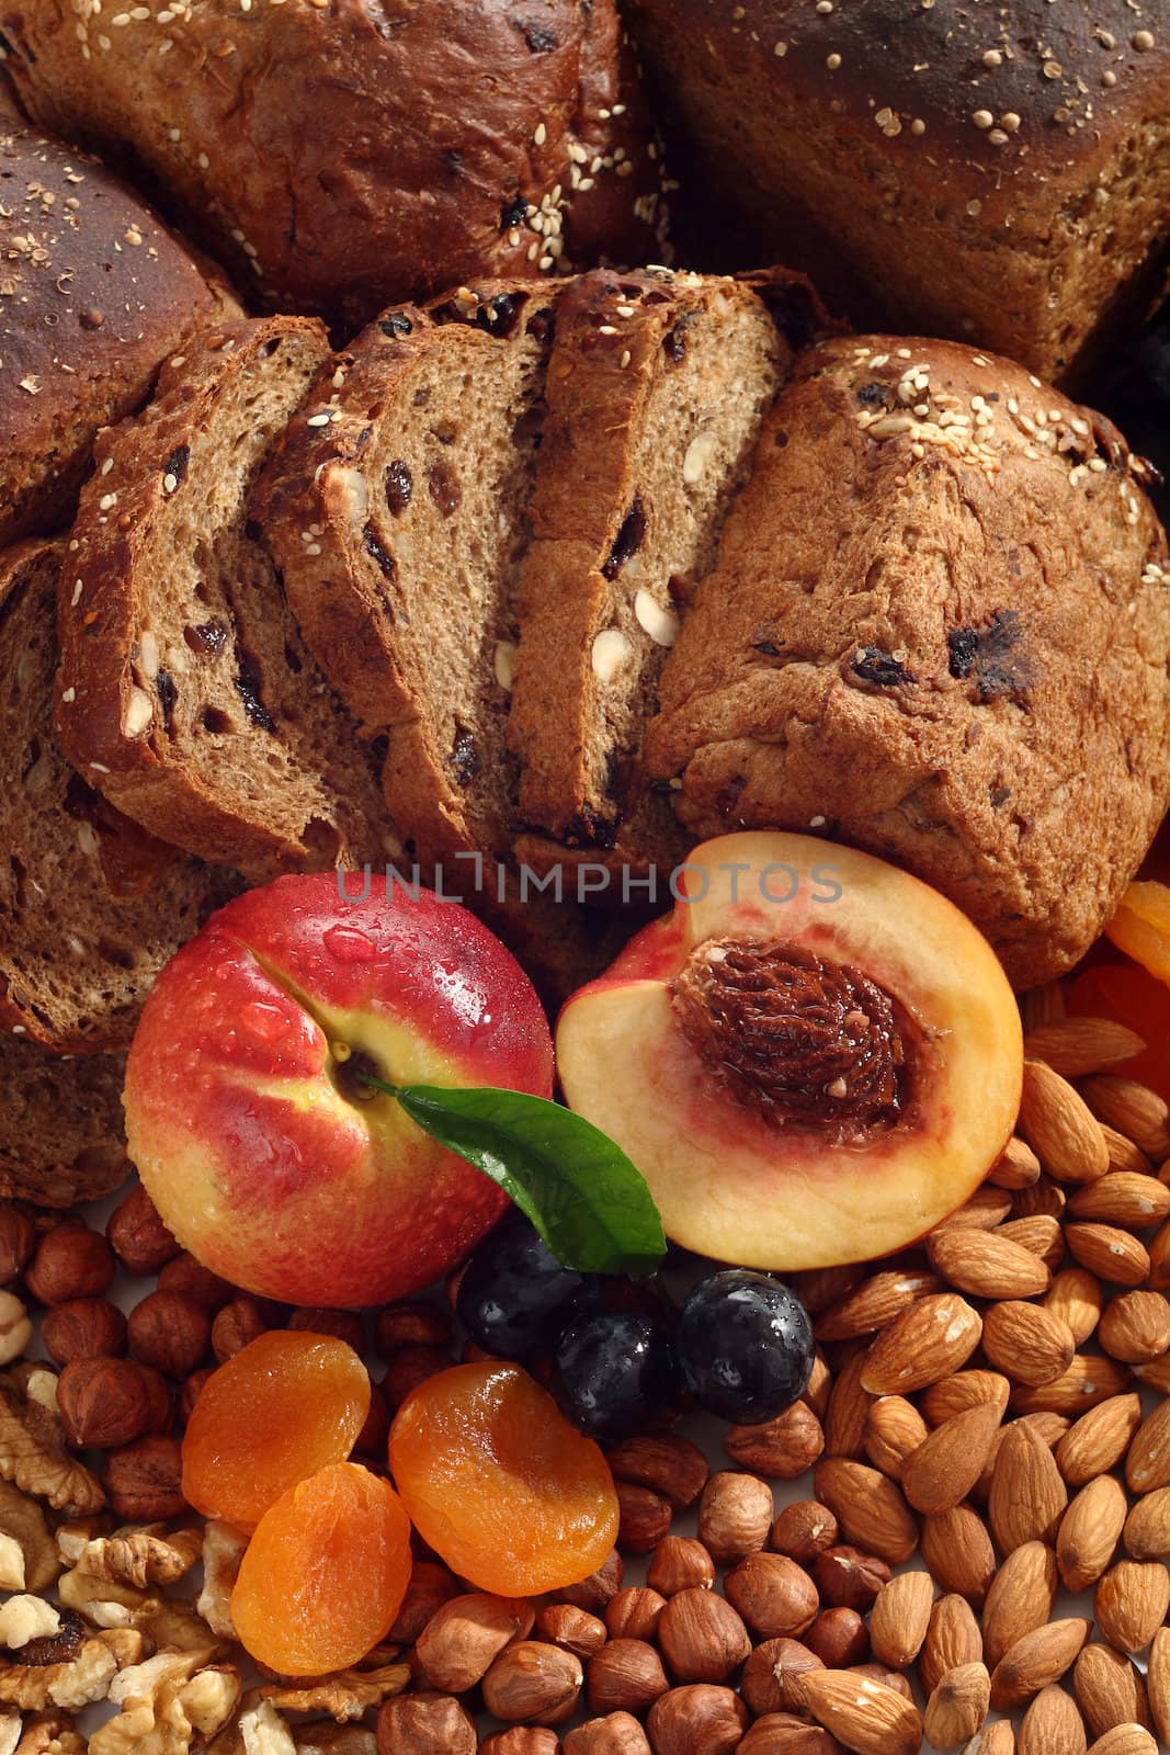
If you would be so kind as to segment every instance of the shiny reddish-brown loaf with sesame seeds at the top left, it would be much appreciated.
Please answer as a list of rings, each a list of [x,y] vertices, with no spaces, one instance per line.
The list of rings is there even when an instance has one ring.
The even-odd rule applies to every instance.
[[[351,326],[568,260],[661,260],[614,0],[2,0],[44,126],[146,176],[240,284]]]

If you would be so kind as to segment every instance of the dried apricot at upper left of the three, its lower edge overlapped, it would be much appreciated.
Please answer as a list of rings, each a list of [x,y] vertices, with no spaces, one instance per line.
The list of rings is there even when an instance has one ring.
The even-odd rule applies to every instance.
[[[251,1529],[281,1494],[340,1462],[370,1411],[370,1378],[333,1336],[275,1329],[203,1385],[182,1439],[182,1492]]]

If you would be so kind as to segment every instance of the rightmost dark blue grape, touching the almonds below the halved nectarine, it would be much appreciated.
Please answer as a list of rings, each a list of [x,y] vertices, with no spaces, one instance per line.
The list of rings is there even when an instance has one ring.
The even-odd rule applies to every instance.
[[[688,1297],[675,1355],[682,1385],[702,1408],[737,1425],[761,1425],[803,1393],[812,1323],[782,1281],[730,1267]]]

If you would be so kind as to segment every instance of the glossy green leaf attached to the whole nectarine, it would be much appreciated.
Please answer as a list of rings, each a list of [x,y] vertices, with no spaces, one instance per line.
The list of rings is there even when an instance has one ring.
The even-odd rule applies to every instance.
[[[649,1274],[667,1253],[646,1178],[572,1109],[488,1086],[379,1088],[393,1092],[432,1139],[498,1183],[567,1267]]]

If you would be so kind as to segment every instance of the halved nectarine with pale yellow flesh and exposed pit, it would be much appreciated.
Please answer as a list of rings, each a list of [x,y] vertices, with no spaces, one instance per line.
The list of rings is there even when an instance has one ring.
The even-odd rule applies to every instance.
[[[568,1104],[668,1237],[798,1269],[900,1250],[961,1206],[1019,1109],[1012,990],[916,878],[810,835],[724,835],[565,1006]]]

